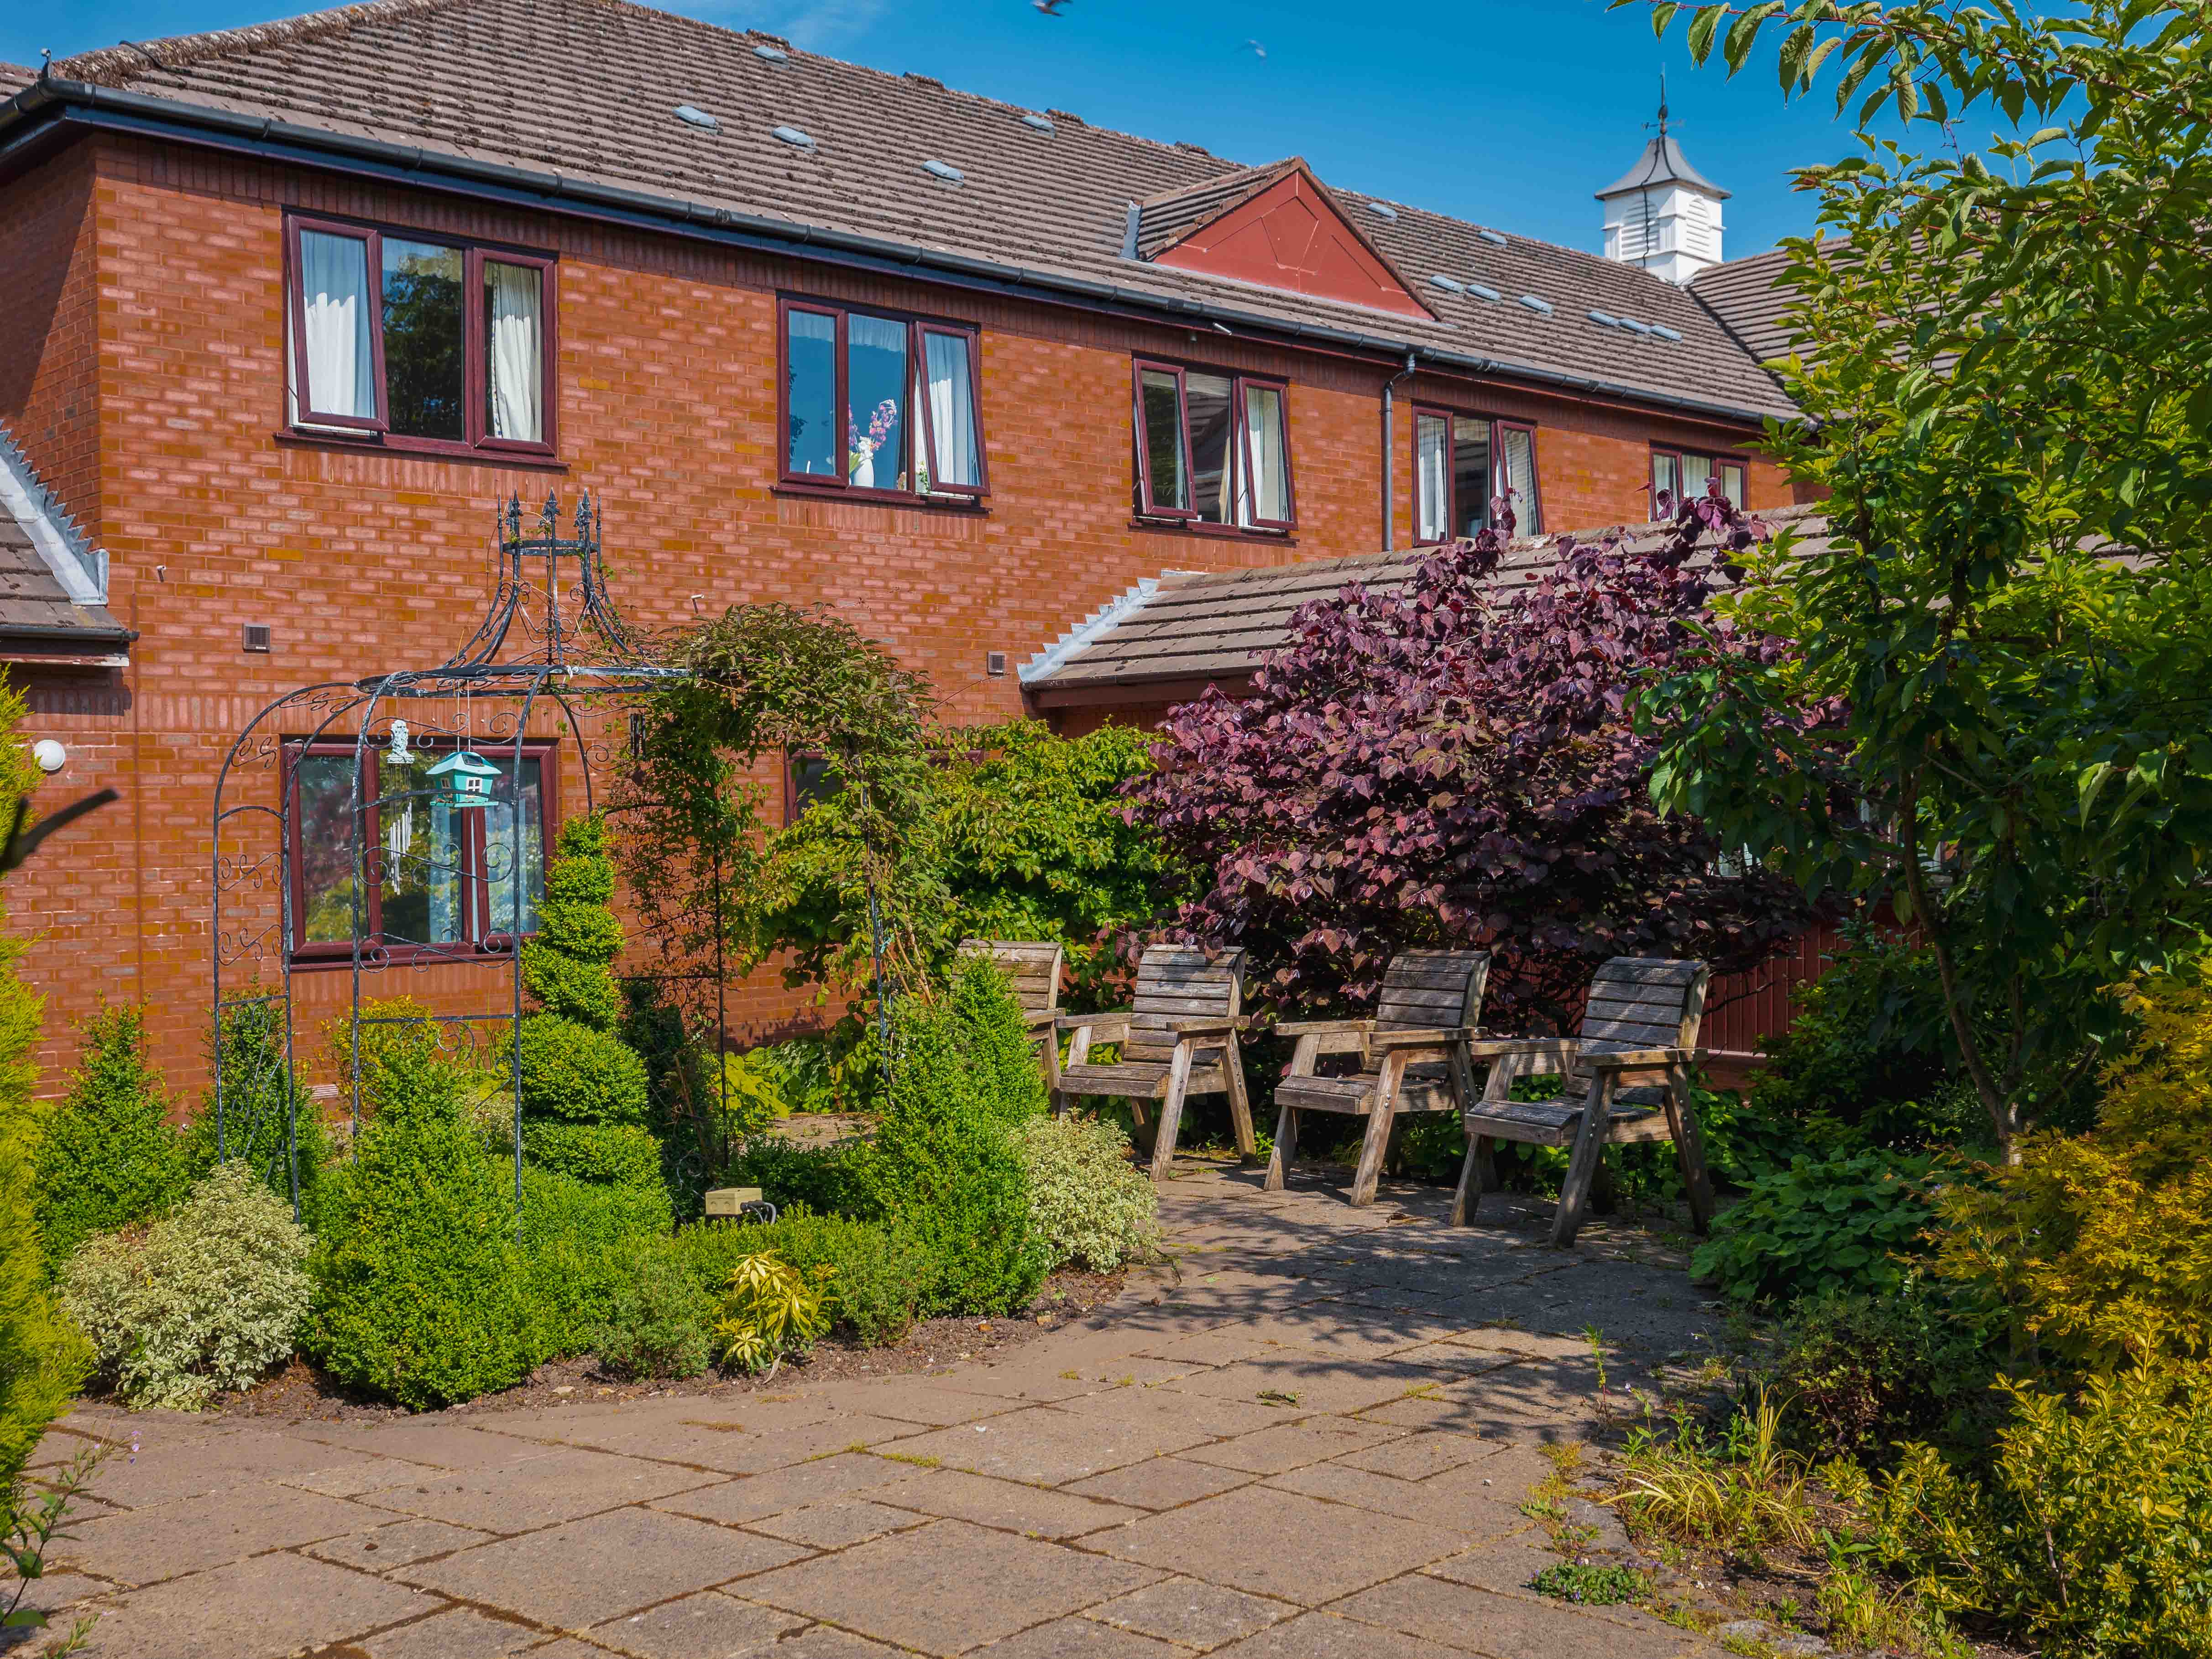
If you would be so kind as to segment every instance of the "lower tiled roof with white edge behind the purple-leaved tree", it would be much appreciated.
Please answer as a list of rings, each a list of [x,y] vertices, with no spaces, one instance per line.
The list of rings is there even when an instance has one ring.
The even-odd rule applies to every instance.
[[[1787,507],[1759,515],[1772,529],[1796,526],[1801,549],[1823,546],[1818,507]],[[1577,531],[1595,540],[1604,531]],[[1506,546],[1493,584],[1511,591],[1553,568],[1555,535],[1524,535]],[[1632,535],[1630,549],[1659,546],[1659,531]],[[1400,588],[1433,549],[1360,553],[1343,560],[1305,560],[1263,571],[1166,571],[1148,593],[1133,591],[1115,613],[1071,630],[1051,650],[1022,666],[1022,684],[1053,699],[1084,701],[1119,688],[1175,686],[1177,681],[1237,681],[1259,668],[1290,633],[1290,619],[1310,599],[1325,599],[1352,584]],[[1699,557],[1710,557],[1703,553]]]

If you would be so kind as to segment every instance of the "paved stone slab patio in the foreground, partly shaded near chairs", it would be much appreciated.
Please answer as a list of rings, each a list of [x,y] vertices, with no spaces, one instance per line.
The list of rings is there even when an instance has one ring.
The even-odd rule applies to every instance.
[[[1714,1316],[1650,1237],[1192,1161],[1175,1259],[949,1374],[403,1422],[88,1407],[93,1659],[1690,1659],[1528,1590],[1546,1440]],[[781,1383],[781,1378],[779,1378]],[[1265,1396],[1265,1398],[1263,1398]],[[71,1613],[64,1610],[66,1626]],[[18,1655],[11,1655],[18,1659]]]

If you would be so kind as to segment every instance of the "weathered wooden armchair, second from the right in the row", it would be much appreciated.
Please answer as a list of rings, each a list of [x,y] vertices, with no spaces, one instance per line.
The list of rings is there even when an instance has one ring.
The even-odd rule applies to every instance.
[[[1383,975],[1374,1020],[1298,1020],[1276,1026],[1298,1046],[1290,1075],[1274,1086],[1274,1157],[1267,1190],[1283,1190],[1283,1175],[1298,1152],[1298,1113],[1343,1113],[1367,1119],[1360,1168],[1352,1177],[1352,1208],[1376,1201],[1383,1155],[1402,1113],[1467,1110],[1475,1073],[1467,1044],[1482,1015],[1489,951],[1402,951]],[[1356,1077],[1316,1077],[1321,1055],[1358,1055]]]

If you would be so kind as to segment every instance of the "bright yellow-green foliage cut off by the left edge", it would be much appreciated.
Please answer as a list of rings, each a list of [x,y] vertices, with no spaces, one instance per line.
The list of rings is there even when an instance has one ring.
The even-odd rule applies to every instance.
[[[0,681],[0,823],[13,823],[15,801],[35,781],[15,741],[22,712],[22,695]],[[31,1175],[46,1124],[46,1108],[31,1097],[44,1002],[15,978],[22,951],[0,931],[0,1520],[9,1522],[15,1475],[93,1365],[91,1345],[46,1294]]]

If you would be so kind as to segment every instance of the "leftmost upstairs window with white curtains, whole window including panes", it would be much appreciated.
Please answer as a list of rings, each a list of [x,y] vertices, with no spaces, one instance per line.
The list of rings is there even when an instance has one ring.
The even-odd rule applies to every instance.
[[[394,449],[553,453],[553,261],[292,219],[294,427]]]

